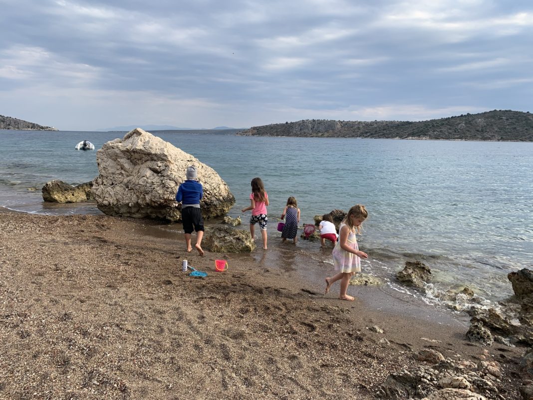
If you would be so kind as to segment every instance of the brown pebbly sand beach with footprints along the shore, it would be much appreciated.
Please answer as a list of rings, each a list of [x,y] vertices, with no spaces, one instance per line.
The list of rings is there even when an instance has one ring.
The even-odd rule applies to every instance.
[[[424,349],[499,362],[493,398],[521,398],[524,349],[468,342],[465,318],[368,286],[341,301],[297,251],[200,257],[154,223],[0,212],[0,398],[373,399]]]

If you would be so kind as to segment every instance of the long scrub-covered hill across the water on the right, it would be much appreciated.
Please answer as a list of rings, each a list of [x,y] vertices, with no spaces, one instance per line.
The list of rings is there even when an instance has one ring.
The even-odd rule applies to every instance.
[[[429,121],[333,121],[252,126],[239,135],[326,138],[385,138],[427,140],[533,141],[533,114],[494,110]]]

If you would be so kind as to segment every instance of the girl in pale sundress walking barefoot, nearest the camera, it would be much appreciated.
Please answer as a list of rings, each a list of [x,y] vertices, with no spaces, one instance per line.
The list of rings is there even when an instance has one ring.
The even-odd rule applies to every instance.
[[[361,258],[368,258],[368,254],[359,250],[356,233],[361,231],[361,223],[368,217],[364,205],[354,205],[346,217],[342,220],[339,228],[339,239],[333,249],[333,265],[335,270],[340,271],[333,277],[326,278],[326,293],[331,285],[341,281],[339,299],[353,301],[353,297],[346,294],[350,278],[361,272]]]

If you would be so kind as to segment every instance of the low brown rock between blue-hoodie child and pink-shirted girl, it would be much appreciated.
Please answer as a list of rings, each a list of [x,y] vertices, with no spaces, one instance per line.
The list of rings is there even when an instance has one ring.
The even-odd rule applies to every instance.
[[[255,249],[255,242],[249,231],[233,229],[227,225],[207,230],[202,245],[216,253],[249,253]]]

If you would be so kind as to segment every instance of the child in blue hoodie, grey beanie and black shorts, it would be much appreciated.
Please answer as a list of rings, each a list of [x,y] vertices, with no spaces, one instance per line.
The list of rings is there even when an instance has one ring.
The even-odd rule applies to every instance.
[[[192,251],[191,233],[196,230],[196,250],[204,255],[201,248],[201,239],[204,237],[204,219],[200,211],[200,199],[204,196],[204,188],[198,182],[196,167],[190,166],[185,174],[187,180],[177,189],[176,202],[181,202],[181,221],[185,231],[185,243],[187,251]]]

